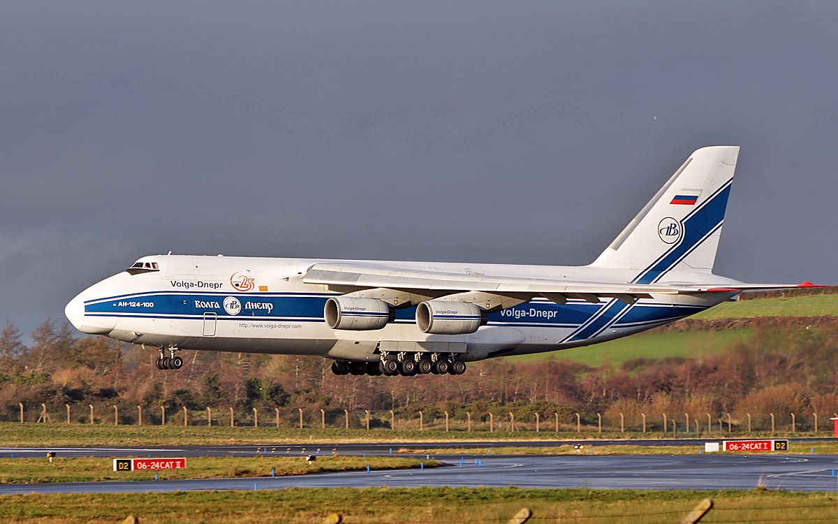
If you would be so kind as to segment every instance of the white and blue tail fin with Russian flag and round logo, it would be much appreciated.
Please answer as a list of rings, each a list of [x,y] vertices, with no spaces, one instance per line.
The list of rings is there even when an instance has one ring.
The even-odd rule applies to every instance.
[[[592,266],[636,269],[635,283],[711,272],[738,155],[738,146],[692,153]]]

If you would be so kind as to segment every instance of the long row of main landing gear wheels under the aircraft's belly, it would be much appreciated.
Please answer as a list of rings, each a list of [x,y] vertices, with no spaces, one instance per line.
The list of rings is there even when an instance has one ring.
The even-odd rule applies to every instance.
[[[334,361],[335,375],[463,375],[466,363],[444,353],[384,353],[379,362]]]

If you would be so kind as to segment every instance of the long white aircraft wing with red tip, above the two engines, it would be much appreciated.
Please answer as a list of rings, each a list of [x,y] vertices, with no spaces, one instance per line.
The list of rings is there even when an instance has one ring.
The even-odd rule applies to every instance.
[[[385,264],[323,262],[308,268],[303,283],[324,284],[344,293],[360,290],[398,290],[420,298],[451,296],[453,299],[467,298],[469,302],[484,302],[489,295],[515,297],[523,302],[535,296],[549,298],[563,304],[567,298],[582,298],[596,304],[600,298],[618,298],[634,304],[639,298],[651,298],[652,294],[684,294],[707,292],[744,291],[748,289],[778,289],[814,286],[803,284],[718,284],[696,283],[597,283],[574,280],[551,280],[545,278],[494,277],[482,274],[455,272],[434,272]],[[386,293],[379,293],[384,296]],[[464,297],[469,294],[476,296]],[[508,301],[498,301],[501,302]],[[504,307],[509,307],[505,306]]]

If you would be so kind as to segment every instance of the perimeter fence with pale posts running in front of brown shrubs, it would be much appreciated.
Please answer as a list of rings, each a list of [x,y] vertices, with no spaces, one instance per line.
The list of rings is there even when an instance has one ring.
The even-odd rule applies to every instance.
[[[171,407],[125,404],[19,402],[0,410],[8,423],[108,424],[126,426],[261,427],[332,430],[401,430],[456,433],[628,433],[633,435],[719,436],[747,433],[833,433],[835,412],[645,413],[610,417],[602,413],[527,413],[332,409],[312,407]]]

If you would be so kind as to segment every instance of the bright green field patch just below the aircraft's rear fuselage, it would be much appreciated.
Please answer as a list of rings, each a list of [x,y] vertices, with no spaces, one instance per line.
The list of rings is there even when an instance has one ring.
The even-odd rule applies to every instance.
[[[755,301],[754,301],[755,302]],[[703,355],[723,353],[732,345],[745,340],[750,329],[727,331],[650,331],[603,344],[554,351],[504,357],[506,361],[543,361],[545,359],[569,359],[588,366],[597,367],[604,362],[618,367],[626,361],[658,358],[699,358]]]

